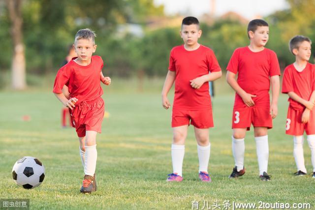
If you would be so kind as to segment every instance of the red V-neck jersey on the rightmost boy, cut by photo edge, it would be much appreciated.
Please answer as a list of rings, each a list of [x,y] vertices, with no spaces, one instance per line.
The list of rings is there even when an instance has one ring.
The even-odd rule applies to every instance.
[[[298,72],[293,64],[284,69],[284,79],[282,92],[294,92],[305,100],[310,100],[312,92],[315,90],[315,66],[307,63],[303,71]],[[305,106],[289,98],[290,106],[293,109],[304,109]]]

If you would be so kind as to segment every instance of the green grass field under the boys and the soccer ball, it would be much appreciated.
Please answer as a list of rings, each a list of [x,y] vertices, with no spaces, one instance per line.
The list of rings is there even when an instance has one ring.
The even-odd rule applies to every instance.
[[[97,136],[97,185],[91,195],[79,193],[83,167],[75,130],[62,129],[61,103],[48,89],[0,92],[0,198],[29,198],[30,209],[199,209],[208,201],[238,203],[309,203],[315,209],[315,180],[311,176],[294,177],[292,137],[284,134],[286,96],[279,101],[279,115],[269,130],[269,168],[272,180],[258,180],[256,149],[252,130],[246,137],[246,174],[228,180],[234,166],[231,151],[231,116],[233,95],[224,83],[217,86],[213,101],[215,127],[210,130],[212,183],[198,180],[197,147],[192,127],[186,142],[181,183],[165,182],[172,172],[170,146],[171,110],[161,107],[161,82],[156,89],[135,91],[123,82],[105,88],[102,133]],[[134,84],[134,83],[132,83]],[[120,86],[120,87],[119,87]],[[221,86],[221,87],[220,87]],[[117,89],[115,90],[115,87]],[[129,90],[128,90],[129,89]],[[223,92],[223,93],[222,93]],[[222,93],[222,94],[221,94]],[[172,99],[172,94],[169,95]],[[30,115],[31,121],[22,116]],[[312,172],[311,154],[304,145],[308,172]],[[12,166],[22,156],[39,158],[46,167],[44,182],[25,190],[11,175]],[[213,206],[212,206],[213,208]],[[207,209],[207,208],[206,208]],[[224,209],[221,206],[221,209]],[[227,209],[227,208],[226,208]]]

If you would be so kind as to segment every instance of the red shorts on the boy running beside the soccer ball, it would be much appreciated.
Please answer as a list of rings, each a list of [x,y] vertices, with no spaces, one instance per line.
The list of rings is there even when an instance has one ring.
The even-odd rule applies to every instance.
[[[75,104],[75,108],[70,110],[72,127],[78,134],[78,137],[84,137],[87,130],[93,130],[101,133],[102,121],[104,118],[105,103],[101,97],[94,101],[82,101]]]

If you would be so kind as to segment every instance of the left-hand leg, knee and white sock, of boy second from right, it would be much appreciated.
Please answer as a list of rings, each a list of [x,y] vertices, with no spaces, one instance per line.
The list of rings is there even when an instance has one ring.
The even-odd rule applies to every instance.
[[[244,169],[244,153],[245,153],[245,142],[244,138],[246,135],[247,128],[234,128],[232,135],[232,152],[235,161],[237,171]]]

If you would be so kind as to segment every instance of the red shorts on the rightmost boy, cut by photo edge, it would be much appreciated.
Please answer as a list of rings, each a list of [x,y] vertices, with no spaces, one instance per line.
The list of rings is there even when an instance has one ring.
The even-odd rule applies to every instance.
[[[304,130],[307,135],[315,134],[315,112],[311,111],[310,120],[307,123],[302,123],[303,112],[304,110],[296,110],[289,106],[285,124],[286,134],[302,136],[304,134]]]

